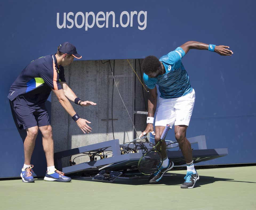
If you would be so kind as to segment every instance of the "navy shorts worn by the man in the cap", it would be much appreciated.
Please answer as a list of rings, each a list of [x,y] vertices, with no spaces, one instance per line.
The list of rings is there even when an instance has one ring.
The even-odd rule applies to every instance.
[[[23,106],[16,104],[16,99],[14,101],[10,101],[10,104],[17,118],[19,129],[50,125],[49,115],[45,104],[33,107]]]

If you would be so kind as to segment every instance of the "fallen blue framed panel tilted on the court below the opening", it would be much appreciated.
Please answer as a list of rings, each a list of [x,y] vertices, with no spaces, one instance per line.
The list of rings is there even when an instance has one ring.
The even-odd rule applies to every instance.
[[[204,136],[194,137],[192,140],[194,142],[199,142],[199,144],[202,145],[205,143]],[[152,147],[150,146],[150,143],[145,144],[148,148]],[[62,167],[61,159],[64,157],[69,157],[72,155],[77,155],[85,152],[99,152],[103,149],[104,151],[112,151],[112,157],[80,163],[74,166]],[[199,149],[193,150],[192,154],[194,163],[198,163],[201,161],[211,160],[214,158],[225,156],[228,154],[228,152],[227,149]],[[78,147],[54,153],[54,161],[55,166],[59,168],[59,170],[62,170],[65,174],[75,174],[90,170],[99,171],[103,168],[115,168],[115,170],[117,170],[118,168],[125,169],[136,167],[141,156],[142,151],[139,151],[138,153],[121,154],[119,139],[113,139],[106,142],[96,143],[93,145]],[[181,151],[167,151],[167,156],[170,160],[172,160],[175,163],[176,166],[183,165],[186,163]]]

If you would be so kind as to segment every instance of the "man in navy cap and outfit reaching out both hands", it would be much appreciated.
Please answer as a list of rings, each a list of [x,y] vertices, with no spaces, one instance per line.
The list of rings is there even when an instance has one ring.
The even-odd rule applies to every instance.
[[[24,141],[25,162],[21,170],[23,182],[34,182],[31,174],[33,165],[30,164],[30,160],[38,130],[42,133],[43,149],[47,161],[47,172],[44,180],[71,181],[71,178],[64,176],[54,167],[53,135],[45,102],[53,91],[60,104],[83,133],[91,132],[91,127],[87,125],[90,122],[78,116],[70,101],[80,106],[96,105],[96,103],[78,98],[67,85],[64,76],[63,67],[72,63],[74,58],[80,59],[81,57],[74,45],[64,42],[59,45],[55,55],[43,56],[28,64],[11,85],[8,95],[10,104],[17,118],[19,129],[26,129],[27,131]]]

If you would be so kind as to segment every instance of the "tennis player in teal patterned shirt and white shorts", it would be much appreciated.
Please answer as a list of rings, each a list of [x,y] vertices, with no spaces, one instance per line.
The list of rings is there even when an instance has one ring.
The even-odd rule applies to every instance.
[[[228,46],[215,46],[213,44],[189,41],[162,56],[159,60],[155,56],[147,56],[142,62],[143,79],[149,88],[149,100],[147,127],[140,137],[151,132],[155,135],[155,143],[157,143],[166,124],[171,125],[171,127],[174,125],[175,138],[187,164],[187,174],[181,188],[193,188],[199,179],[193,164],[191,144],[186,138],[186,130],[189,126],[195,102],[195,91],[190,85],[189,76],[182,65],[181,59],[190,49],[209,50],[223,56],[233,54]],[[161,93],[159,98],[156,85],[158,85]],[[155,132],[153,127],[154,115]],[[163,165],[155,174],[150,176],[150,184],[158,182],[163,174],[174,166],[173,162],[167,157],[165,141],[162,142],[161,151],[164,159]]]

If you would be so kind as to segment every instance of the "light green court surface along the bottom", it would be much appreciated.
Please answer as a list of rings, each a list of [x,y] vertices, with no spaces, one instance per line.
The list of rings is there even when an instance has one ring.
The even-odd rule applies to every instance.
[[[1,209],[256,209],[256,166],[197,169],[193,189],[181,189],[185,170],[171,170],[157,184],[147,176],[35,183],[0,179]]]

